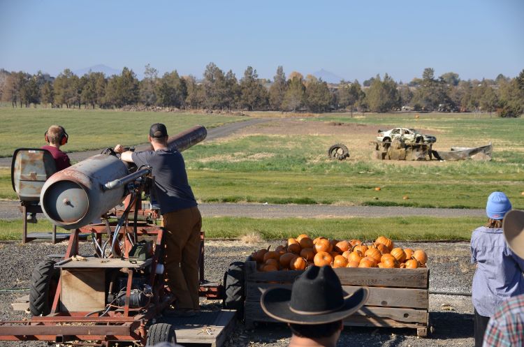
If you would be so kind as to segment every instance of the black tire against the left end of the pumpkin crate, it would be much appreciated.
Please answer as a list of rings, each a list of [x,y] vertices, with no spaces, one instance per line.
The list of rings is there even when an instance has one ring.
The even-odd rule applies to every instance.
[[[224,274],[224,309],[235,309],[240,316],[244,310],[244,278],[244,263],[235,261],[229,264]]]

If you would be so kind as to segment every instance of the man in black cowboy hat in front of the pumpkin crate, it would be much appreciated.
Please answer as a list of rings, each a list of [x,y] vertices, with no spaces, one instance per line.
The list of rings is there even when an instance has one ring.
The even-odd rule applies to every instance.
[[[342,320],[360,309],[367,300],[367,288],[349,295],[329,266],[310,266],[293,283],[291,290],[271,288],[260,301],[263,311],[288,323],[290,347],[335,347],[344,327]]]

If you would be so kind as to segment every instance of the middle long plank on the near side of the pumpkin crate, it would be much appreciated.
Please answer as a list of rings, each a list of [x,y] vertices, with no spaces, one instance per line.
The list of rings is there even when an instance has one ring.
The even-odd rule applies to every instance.
[[[264,290],[268,288],[288,288],[291,284],[247,283],[246,301],[259,302]],[[342,286],[349,294],[354,293],[361,286]],[[428,309],[428,290],[412,288],[381,288],[367,287],[370,296],[366,305],[386,307],[409,307],[412,309]]]

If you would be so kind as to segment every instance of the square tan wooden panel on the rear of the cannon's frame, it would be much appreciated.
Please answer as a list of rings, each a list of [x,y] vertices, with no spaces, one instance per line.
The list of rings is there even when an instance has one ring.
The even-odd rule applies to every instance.
[[[103,269],[61,270],[61,307],[64,311],[99,311],[105,307]]]

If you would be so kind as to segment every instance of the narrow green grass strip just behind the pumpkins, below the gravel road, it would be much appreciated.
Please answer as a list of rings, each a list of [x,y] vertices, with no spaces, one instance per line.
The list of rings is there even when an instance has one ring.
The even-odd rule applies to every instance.
[[[351,219],[254,219],[204,218],[203,230],[209,238],[239,238],[256,233],[263,239],[287,239],[306,233],[310,237],[336,239],[376,239],[385,235],[402,241],[439,241],[470,239],[474,228],[486,223],[482,218],[351,218]],[[20,239],[22,221],[0,221],[0,239]],[[51,223],[40,219],[29,225],[29,232],[51,230]],[[58,232],[64,232],[59,229]]]

